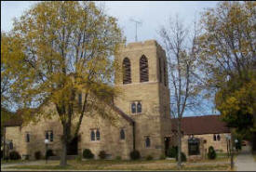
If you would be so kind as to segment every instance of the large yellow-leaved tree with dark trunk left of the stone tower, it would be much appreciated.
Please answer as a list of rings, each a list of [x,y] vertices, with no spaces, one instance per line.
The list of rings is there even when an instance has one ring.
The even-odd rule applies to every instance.
[[[122,33],[115,18],[93,2],[52,1],[37,3],[15,20],[11,35],[21,45],[12,50],[24,54],[8,59],[19,61],[16,68],[8,66],[17,72],[12,89],[19,93],[28,120],[32,108],[37,109],[34,117],[59,116],[60,165],[67,165],[67,145],[86,114],[97,112],[114,119],[107,104],[117,94],[113,77],[118,66],[113,56],[124,43]],[[43,111],[45,106],[55,111]]]

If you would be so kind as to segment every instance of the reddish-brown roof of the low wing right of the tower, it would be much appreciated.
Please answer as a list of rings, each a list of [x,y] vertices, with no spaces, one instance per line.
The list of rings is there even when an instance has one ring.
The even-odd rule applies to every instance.
[[[172,122],[175,123],[175,120],[176,119],[172,120]],[[182,132],[184,135],[202,135],[230,133],[230,130],[226,124],[222,122],[220,115],[203,115],[183,117]]]

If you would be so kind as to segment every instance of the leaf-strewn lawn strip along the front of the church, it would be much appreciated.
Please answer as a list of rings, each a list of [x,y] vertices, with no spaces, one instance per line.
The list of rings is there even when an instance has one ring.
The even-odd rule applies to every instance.
[[[206,164],[196,165],[187,162],[182,166],[182,170],[228,170],[228,164]],[[217,162],[218,163],[218,162]],[[176,162],[173,160],[87,160],[68,161],[69,165],[60,166],[59,161],[49,161],[47,165],[15,165],[11,169],[67,169],[67,170],[178,170]]]

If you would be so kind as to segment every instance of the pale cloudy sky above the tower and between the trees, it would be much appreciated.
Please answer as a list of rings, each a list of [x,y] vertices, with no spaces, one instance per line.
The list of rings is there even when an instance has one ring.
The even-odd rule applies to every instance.
[[[13,19],[20,18],[21,14],[32,7],[35,1],[1,1],[1,32],[12,29]],[[127,43],[135,42],[135,23],[131,21],[140,20],[137,34],[138,41],[149,39],[158,40],[157,31],[160,26],[165,25],[168,19],[176,15],[185,24],[190,25],[198,19],[200,12],[208,7],[215,7],[216,1],[97,1],[98,6],[104,6],[106,13],[117,19],[127,38]],[[208,102],[212,106],[211,102]],[[195,113],[195,112],[190,112]],[[188,115],[190,115],[188,112]],[[204,113],[212,113],[211,108]]]

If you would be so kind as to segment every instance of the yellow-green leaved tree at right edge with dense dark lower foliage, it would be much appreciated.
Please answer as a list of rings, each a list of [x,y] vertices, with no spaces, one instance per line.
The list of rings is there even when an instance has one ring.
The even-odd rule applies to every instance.
[[[255,6],[220,2],[207,9],[201,20],[205,32],[199,38],[202,69],[216,107],[229,126],[243,129],[252,129],[253,115],[256,119]]]

